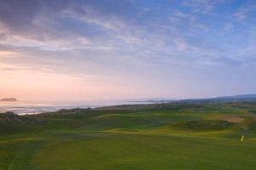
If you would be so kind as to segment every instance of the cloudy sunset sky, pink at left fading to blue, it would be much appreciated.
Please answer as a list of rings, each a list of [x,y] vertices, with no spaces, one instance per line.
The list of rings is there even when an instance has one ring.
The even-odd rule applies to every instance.
[[[256,94],[254,0],[0,0],[0,98]]]

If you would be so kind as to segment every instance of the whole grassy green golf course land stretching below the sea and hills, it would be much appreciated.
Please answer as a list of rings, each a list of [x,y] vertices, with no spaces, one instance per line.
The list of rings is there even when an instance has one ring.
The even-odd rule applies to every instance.
[[[256,167],[256,103],[170,103],[0,115],[2,170]],[[241,142],[241,135],[245,140]],[[244,145],[246,150],[244,150]]]

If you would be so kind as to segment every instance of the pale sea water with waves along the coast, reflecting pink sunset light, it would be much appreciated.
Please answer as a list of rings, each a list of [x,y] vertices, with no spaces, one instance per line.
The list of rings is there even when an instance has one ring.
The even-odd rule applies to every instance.
[[[38,114],[51,111],[60,111],[61,109],[74,108],[96,108],[108,105],[131,105],[131,104],[153,104],[156,101],[125,101],[125,100],[94,100],[85,102],[43,102],[43,101],[17,101],[0,102],[0,113],[12,111],[18,115]]]

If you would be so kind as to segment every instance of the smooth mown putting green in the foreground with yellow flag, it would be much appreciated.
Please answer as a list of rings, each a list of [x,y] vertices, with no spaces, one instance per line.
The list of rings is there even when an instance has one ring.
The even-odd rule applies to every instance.
[[[50,144],[38,151],[32,165],[55,170],[253,169],[255,146],[248,143],[250,152],[244,156],[236,139],[108,135]]]

